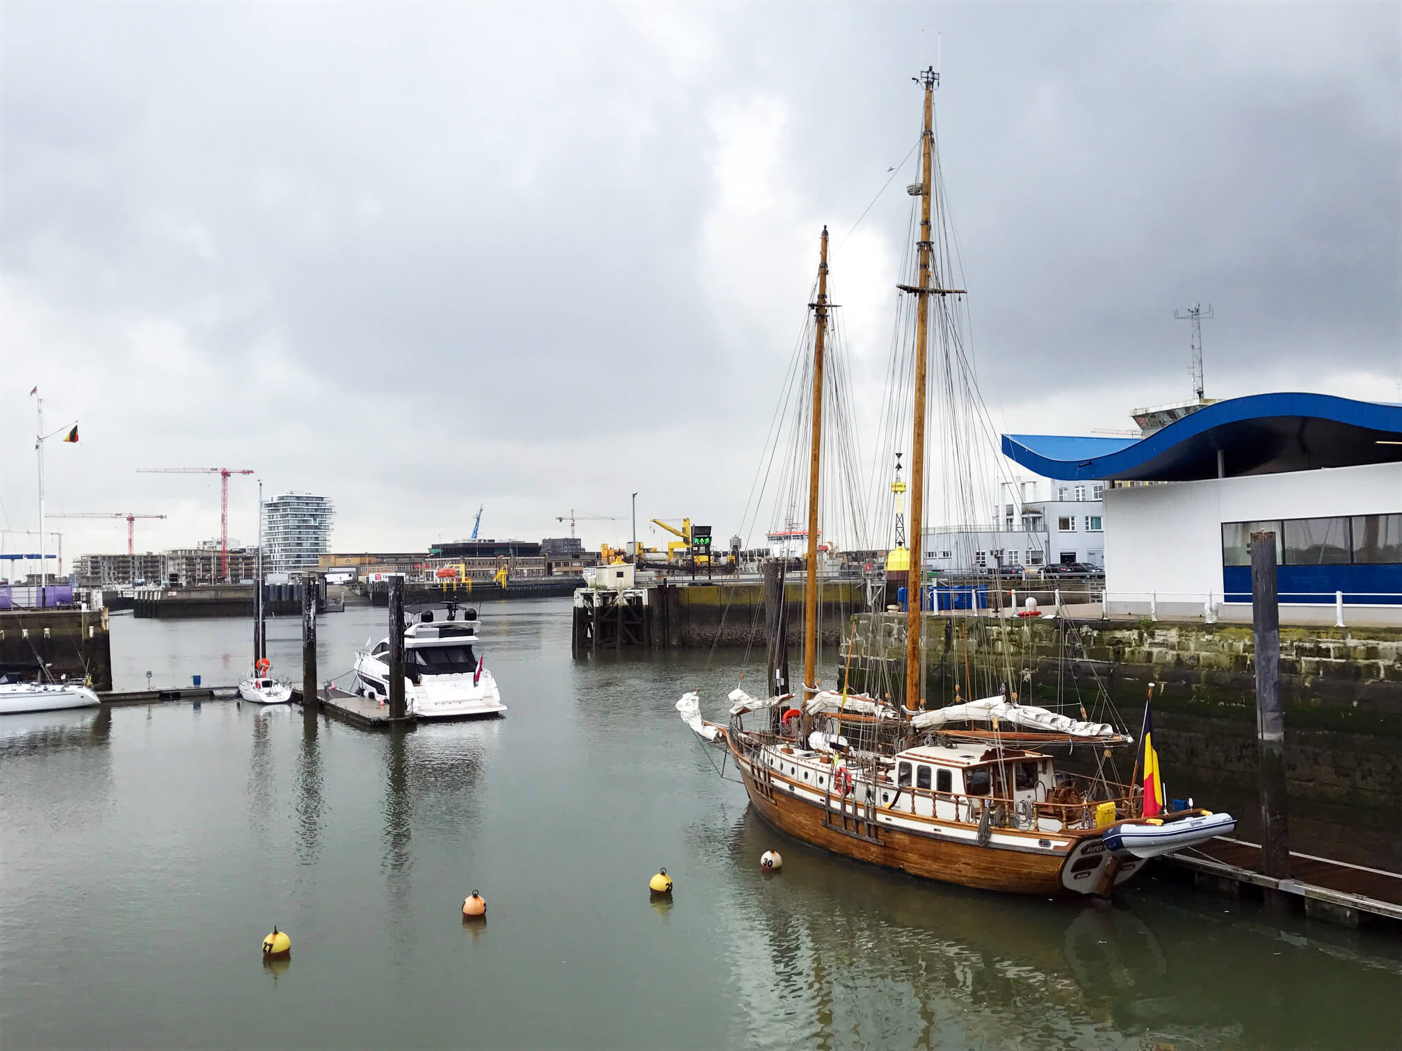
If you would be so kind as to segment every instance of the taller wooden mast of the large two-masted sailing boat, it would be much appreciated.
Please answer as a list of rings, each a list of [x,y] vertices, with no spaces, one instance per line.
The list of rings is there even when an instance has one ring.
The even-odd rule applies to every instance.
[[[931,233],[930,233],[930,189],[931,189],[931,154],[934,153],[934,111],[935,84],[939,74],[934,67],[920,74],[920,83],[925,87],[925,128],[920,139],[920,241],[916,248],[920,254],[918,284],[913,291],[916,296],[916,433],[910,450],[910,575],[906,586],[906,708],[920,708],[920,615],[921,569],[925,561],[924,513],[925,513],[925,357],[930,345],[930,270],[931,270]]]

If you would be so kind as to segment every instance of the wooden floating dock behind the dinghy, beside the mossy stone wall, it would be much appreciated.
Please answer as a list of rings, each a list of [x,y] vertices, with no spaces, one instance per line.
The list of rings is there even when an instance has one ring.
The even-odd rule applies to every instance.
[[[1262,873],[1260,845],[1217,837],[1165,855],[1165,866],[1192,874],[1195,886],[1241,897],[1246,888],[1298,900],[1307,916],[1345,926],[1375,919],[1402,923],[1402,873],[1290,852],[1288,879]]]

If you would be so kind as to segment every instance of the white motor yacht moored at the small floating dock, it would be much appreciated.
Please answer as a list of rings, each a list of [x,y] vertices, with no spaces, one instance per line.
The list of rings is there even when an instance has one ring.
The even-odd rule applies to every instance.
[[[418,719],[502,715],[496,680],[474,650],[477,611],[449,603],[422,610],[404,629],[404,701]],[[390,696],[390,639],[356,652],[356,691],[372,699]]]

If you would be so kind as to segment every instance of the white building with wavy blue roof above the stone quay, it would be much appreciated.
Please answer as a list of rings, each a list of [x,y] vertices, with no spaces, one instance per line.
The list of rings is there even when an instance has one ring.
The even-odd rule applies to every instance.
[[[1108,614],[1241,619],[1249,537],[1269,530],[1281,617],[1402,621],[1402,405],[1258,394],[1141,439],[1004,434],[1002,450],[1049,479],[1109,482]]]

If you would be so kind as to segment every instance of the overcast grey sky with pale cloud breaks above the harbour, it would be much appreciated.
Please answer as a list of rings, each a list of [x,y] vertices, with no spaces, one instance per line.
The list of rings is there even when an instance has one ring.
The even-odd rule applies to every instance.
[[[852,227],[937,34],[1001,426],[1190,397],[1195,300],[1211,397],[1399,401],[1399,10],[4,0],[0,524],[35,528],[38,384],[81,427],[48,509],[170,516],[140,548],[219,523],[217,476],[140,467],[325,493],[339,551],[467,535],[478,504],[482,535],[565,535],[635,489],[639,521],[728,537],[824,223],[879,383],[904,168]],[[255,493],[230,483],[240,540]]]

